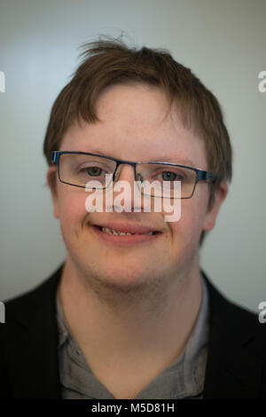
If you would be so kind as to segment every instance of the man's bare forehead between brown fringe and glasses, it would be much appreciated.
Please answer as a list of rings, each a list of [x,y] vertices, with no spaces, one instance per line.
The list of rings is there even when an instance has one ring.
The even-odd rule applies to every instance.
[[[168,111],[169,110],[169,111]],[[60,150],[106,154],[129,161],[185,160],[207,169],[203,141],[184,127],[178,106],[157,87],[113,85],[98,98],[99,122],[75,123]]]

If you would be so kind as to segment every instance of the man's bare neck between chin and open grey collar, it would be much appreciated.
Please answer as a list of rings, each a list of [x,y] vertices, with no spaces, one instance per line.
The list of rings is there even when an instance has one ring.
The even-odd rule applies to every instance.
[[[166,285],[166,283],[168,285]],[[90,285],[68,258],[59,283],[66,323],[90,365],[127,360],[164,361],[170,365],[184,350],[202,300],[199,256],[179,276],[154,286],[153,294],[108,293]],[[97,291],[95,291],[97,289]],[[106,358],[106,346],[108,358]]]

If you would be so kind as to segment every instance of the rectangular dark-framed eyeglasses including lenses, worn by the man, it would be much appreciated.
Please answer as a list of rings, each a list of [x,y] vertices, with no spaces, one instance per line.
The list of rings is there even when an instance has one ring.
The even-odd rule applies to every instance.
[[[96,153],[53,151],[51,161],[57,164],[62,183],[86,188],[89,181],[97,180],[99,185],[93,185],[96,189],[107,188],[115,181],[118,167],[129,164],[134,168],[138,187],[138,182],[141,184],[141,192],[153,197],[161,197],[163,187],[164,196],[176,198],[175,183],[180,181],[181,197],[178,198],[190,199],[199,181],[215,181],[212,174],[202,169],[161,161],[123,161]]]

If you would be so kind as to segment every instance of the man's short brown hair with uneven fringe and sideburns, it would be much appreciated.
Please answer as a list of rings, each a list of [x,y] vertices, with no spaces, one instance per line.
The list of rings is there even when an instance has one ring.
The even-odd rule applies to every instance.
[[[129,47],[121,39],[109,37],[83,46],[82,64],[51,108],[43,143],[48,164],[51,165],[51,152],[59,150],[66,130],[74,122],[98,121],[96,104],[107,86],[132,82],[158,86],[166,93],[169,106],[173,102],[180,105],[184,127],[193,129],[204,141],[207,169],[216,178],[210,184],[208,209],[211,209],[215,190],[221,181],[231,181],[232,175],[230,138],[214,94],[165,49]],[[200,245],[205,233],[201,234]]]

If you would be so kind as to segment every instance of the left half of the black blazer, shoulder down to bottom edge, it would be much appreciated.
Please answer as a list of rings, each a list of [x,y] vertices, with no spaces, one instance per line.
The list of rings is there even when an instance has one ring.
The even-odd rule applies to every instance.
[[[63,265],[22,295],[4,301],[0,398],[59,398],[56,293]]]

